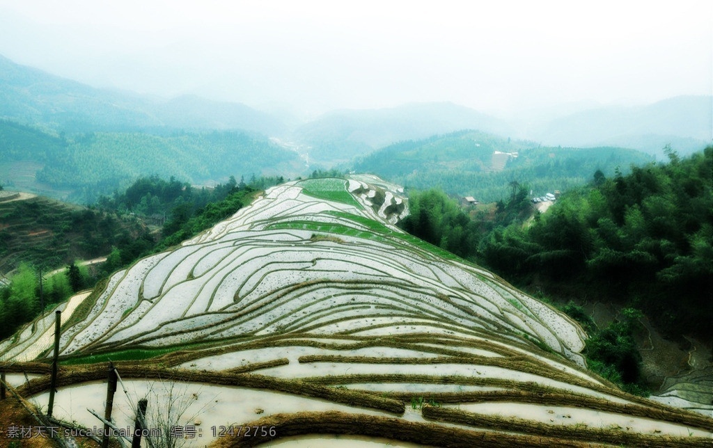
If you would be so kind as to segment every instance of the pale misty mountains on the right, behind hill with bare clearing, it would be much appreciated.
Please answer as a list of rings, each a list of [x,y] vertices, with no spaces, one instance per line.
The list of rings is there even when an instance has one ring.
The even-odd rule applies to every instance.
[[[458,130],[534,140],[547,146],[626,147],[658,159],[671,145],[681,155],[713,142],[713,96],[679,96],[639,107],[600,107],[540,120],[527,130],[513,121],[453,103],[415,103],[397,108],[337,110],[292,132],[313,160],[345,162],[404,140]]]

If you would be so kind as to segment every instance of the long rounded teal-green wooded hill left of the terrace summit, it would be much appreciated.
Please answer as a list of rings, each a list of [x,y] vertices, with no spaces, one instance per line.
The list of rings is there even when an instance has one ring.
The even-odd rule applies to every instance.
[[[265,137],[245,132],[172,137],[93,133],[71,142],[65,154],[38,173],[38,179],[84,189],[112,179],[116,185],[122,179],[135,179],[141,174],[174,175],[196,183],[236,172],[262,174],[267,165],[277,173],[280,165],[296,158],[294,152],[270,144]]]

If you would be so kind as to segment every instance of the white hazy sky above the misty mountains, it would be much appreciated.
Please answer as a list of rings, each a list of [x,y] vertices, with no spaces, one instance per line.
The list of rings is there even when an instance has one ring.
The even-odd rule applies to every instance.
[[[0,54],[101,87],[301,113],[713,91],[713,1],[0,0]]]

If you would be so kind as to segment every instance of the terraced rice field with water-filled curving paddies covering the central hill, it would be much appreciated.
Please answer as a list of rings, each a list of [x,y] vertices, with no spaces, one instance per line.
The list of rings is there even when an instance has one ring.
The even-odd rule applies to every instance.
[[[86,408],[101,411],[111,360],[116,424],[141,397],[164,418],[180,401],[172,423],[200,430],[193,446],[709,446],[713,419],[588,372],[576,323],[404,234],[407,213],[376,177],[289,182],[113,274],[67,306],[56,417],[98,424]],[[9,381],[46,406],[41,328],[0,356],[41,374]],[[248,424],[275,430],[215,429]]]

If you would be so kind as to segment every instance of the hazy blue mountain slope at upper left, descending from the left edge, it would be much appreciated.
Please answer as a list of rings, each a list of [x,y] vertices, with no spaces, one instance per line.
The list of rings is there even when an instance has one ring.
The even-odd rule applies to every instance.
[[[202,98],[173,100],[93,88],[0,56],[0,118],[58,132],[173,132],[242,129],[275,135],[278,118],[240,103]]]

